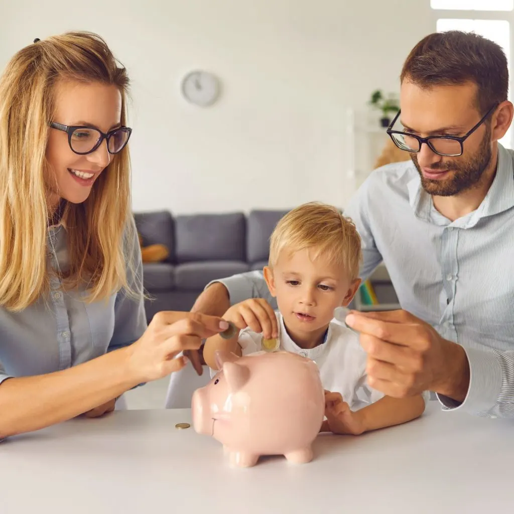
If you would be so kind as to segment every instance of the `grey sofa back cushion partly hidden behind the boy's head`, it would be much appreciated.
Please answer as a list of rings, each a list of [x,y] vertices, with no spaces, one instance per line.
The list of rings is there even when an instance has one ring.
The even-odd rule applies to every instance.
[[[253,210],[248,215],[246,255],[248,262],[266,261],[269,238],[280,218],[289,211]]]

